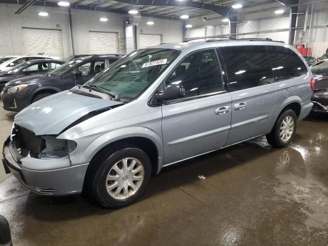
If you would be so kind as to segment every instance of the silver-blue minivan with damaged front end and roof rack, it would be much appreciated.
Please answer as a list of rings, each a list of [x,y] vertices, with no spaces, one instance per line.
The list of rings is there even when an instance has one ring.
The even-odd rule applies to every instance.
[[[261,135],[289,145],[313,89],[304,58],[267,39],[140,49],[18,113],[3,163],[35,193],[117,208],[163,167]]]

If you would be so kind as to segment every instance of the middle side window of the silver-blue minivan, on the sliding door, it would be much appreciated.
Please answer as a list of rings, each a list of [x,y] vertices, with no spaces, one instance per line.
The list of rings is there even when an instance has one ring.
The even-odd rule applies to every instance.
[[[230,91],[274,82],[270,58],[264,46],[221,47],[220,51],[226,65]]]

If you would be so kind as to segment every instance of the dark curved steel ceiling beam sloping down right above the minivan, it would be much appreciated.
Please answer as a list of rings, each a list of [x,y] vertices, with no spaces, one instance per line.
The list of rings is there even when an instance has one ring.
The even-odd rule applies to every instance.
[[[176,0],[115,0],[116,2],[132,4],[132,5],[153,5],[153,6],[174,6],[174,7],[191,7],[196,9],[207,9],[211,10],[219,15],[227,15],[230,8],[212,5],[212,4],[203,4],[199,2],[192,1],[183,1],[179,2]],[[231,11],[232,12],[232,11]]]

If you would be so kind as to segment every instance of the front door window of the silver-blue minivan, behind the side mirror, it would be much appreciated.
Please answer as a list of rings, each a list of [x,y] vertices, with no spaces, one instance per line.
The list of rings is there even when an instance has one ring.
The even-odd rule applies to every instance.
[[[179,84],[186,97],[223,91],[216,51],[201,50],[186,56],[165,81],[165,86]]]

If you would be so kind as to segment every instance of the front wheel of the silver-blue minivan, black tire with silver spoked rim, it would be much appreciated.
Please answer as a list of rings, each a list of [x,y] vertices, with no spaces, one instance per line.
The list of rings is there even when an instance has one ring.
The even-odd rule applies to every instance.
[[[125,159],[127,159],[128,165],[124,172],[123,165]],[[135,147],[127,147],[116,150],[112,154],[105,155],[105,157],[98,160],[98,164],[94,163],[98,167],[91,167],[88,175],[90,177],[90,192],[102,206],[106,208],[124,207],[136,201],[144,193],[152,173],[150,158],[144,151]],[[138,162],[130,170],[129,168],[131,168],[134,161]],[[143,172],[140,169],[141,171],[133,174],[133,172],[139,169],[140,164]],[[122,173],[116,172],[117,168]],[[142,180],[141,176],[143,176]],[[108,177],[113,177],[113,180],[107,180]],[[139,180],[133,181],[133,178],[138,178]],[[134,189],[130,186],[131,180],[135,186]],[[115,196],[118,190],[119,193]]]

